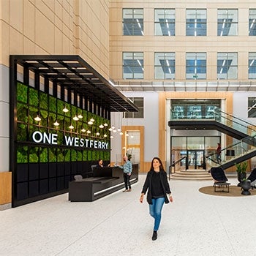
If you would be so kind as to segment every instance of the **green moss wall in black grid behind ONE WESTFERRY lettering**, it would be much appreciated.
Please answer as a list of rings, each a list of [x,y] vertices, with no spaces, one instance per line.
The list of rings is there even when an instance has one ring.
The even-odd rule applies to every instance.
[[[67,113],[63,109],[67,108]],[[35,121],[36,116],[41,118]],[[81,115],[78,121],[73,120],[74,116]],[[88,121],[94,118],[93,124]],[[53,125],[58,121],[59,126]],[[108,124],[103,129],[100,124]],[[72,125],[74,128],[69,129]],[[78,162],[97,161],[102,158],[110,160],[110,132],[108,128],[110,120],[89,113],[87,110],[78,108],[75,105],[64,102],[43,91],[26,86],[23,83],[17,84],[17,163],[43,163],[43,162]],[[58,135],[58,145],[43,145],[34,143],[33,132],[45,132]],[[91,133],[87,133],[90,131]],[[64,135],[100,140],[108,143],[108,149],[78,148],[75,146],[64,146]],[[105,137],[106,136],[106,137]]]

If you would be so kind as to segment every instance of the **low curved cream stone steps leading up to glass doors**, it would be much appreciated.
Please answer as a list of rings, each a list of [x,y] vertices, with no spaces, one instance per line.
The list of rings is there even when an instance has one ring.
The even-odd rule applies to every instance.
[[[171,173],[170,179],[187,181],[211,181],[213,178],[206,170],[179,170]]]

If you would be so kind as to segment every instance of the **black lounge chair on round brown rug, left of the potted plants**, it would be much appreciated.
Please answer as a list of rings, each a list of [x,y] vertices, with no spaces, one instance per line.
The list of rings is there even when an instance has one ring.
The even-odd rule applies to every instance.
[[[228,179],[222,167],[211,167],[211,176],[214,178],[214,192],[230,192],[230,183],[227,182]]]

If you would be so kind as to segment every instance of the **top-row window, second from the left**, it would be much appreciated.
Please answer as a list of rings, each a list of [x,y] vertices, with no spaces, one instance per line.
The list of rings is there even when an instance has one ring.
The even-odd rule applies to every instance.
[[[175,36],[175,10],[154,10],[154,34],[155,36]]]

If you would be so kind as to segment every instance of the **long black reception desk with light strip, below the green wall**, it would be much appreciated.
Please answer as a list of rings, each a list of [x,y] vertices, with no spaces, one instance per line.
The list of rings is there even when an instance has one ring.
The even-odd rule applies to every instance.
[[[94,167],[93,177],[69,182],[69,201],[91,202],[124,188],[123,173],[119,167]],[[138,181],[138,164],[132,165],[130,181]]]

